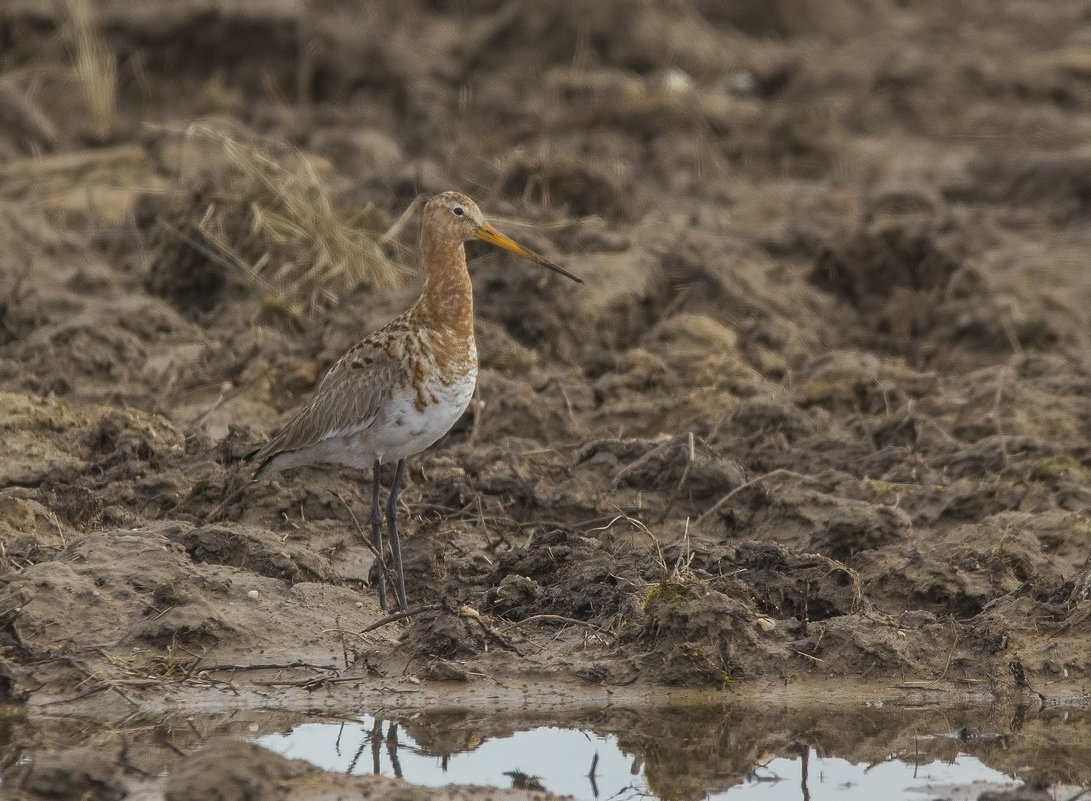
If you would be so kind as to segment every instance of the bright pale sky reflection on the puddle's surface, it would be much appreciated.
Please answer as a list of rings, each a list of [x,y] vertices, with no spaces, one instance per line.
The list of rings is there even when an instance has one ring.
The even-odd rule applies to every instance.
[[[589,801],[642,798],[838,799],[886,801],[958,797],[955,788],[976,798],[984,789],[1019,784],[976,756],[958,752],[946,760],[930,755],[933,738],[921,738],[916,763],[891,756],[878,764],[819,756],[814,748],[794,756],[767,755],[747,773],[710,760],[717,754],[696,748],[691,758],[655,761],[620,743],[615,734],[555,727],[530,728],[506,736],[481,737],[463,730],[437,733],[431,744],[418,742],[399,724],[364,715],[359,722],[303,724],[288,733],[256,742],[285,756],[307,760],[336,773],[397,776],[439,787],[448,784],[492,787],[536,782],[551,792]],[[466,737],[468,734],[468,737]],[[670,736],[670,734],[668,734]],[[457,743],[457,744],[456,744]],[[684,743],[672,743],[672,752]],[[648,755],[647,758],[651,758]],[[717,774],[721,774],[717,777]],[[524,782],[520,785],[519,782]]]

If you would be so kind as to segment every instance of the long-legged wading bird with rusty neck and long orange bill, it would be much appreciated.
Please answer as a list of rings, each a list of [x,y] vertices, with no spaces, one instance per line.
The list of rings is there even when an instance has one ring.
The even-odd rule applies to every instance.
[[[444,192],[432,198],[421,222],[424,285],[417,302],[353,345],[319,382],[310,402],[252,455],[260,463],[255,478],[317,463],[371,467],[371,525],[381,558],[379,468],[384,462],[397,463],[386,523],[403,610],[405,576],[396,509],[405,459],[451,430],[469,405],[477,383],[473,291],[464,247],[471,239],[492,242],[580,280],[497,231],[466,195]],[[383,576],[379,596],[385,607]]]

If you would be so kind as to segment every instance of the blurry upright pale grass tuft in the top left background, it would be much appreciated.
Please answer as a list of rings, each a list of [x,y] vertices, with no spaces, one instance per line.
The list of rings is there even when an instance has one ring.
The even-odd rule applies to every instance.
[[[89,0],[65,0],[74,49],[74,69],[91,116],[93,134],[108,139],[118,116],[118,60],[106,45]]]

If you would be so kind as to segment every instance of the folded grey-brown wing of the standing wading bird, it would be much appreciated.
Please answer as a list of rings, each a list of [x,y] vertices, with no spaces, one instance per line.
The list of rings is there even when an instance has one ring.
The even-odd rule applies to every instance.
[[[279,454],[317,444],[336,433],[371,425],[405,368],[383,348],[364,340],[343,356],[314,390],[310,402],[252,459],[260,476]]]

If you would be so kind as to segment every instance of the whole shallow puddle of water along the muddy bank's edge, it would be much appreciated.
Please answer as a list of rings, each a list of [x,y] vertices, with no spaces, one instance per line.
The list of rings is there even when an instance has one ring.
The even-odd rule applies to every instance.
[[[56,717],[0,707],[0,772],[94,742],[144,774],[223,740],[248,739],[328,770],[420,785],[540,784],[577,799],[948,798],[945,785],[1091,782],[1091,712],[1036,706],[861,708],[711,704],[598,708],[434,708]],[[914,789],[915,788],[915,789]],[[922,796],[921,789],[928,788]],[[984,789],[984,788],[981,788]],[[976,798],[981,789],[969,794]],[[870,794],[868,794],[870,793]],[[0,790],[2,794],[2,790]],[[1055,793],[1069,798],[1072,792]]]

